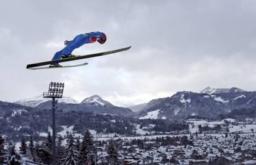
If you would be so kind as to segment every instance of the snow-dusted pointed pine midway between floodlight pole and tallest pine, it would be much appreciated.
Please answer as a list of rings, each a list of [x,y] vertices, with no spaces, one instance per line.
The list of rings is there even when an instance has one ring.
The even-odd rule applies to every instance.
[[[67,138],[67,146],[66,146],[66,158],[63,159],[63,165],[76,165],[77,164],[77,150],[75,150],[74,145],[74,136],[72,133],[69,134]]]

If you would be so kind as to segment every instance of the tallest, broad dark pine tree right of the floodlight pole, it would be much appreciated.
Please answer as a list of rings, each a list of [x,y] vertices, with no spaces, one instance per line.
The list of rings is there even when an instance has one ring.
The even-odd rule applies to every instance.
[[[87,154],[95,153],[95,141],[92,134],[89,130],[85,130],[83,134],[83,140],[80,145],[80,152],[79,152],[79,164],[86,164],[87,163]]]

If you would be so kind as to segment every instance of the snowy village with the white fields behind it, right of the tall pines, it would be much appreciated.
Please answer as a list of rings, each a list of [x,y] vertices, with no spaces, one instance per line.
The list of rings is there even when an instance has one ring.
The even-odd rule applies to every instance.
[[[256,164],[255,119],[244,122],[228,119],[222,124],[195,119],[188,122],[195,122],[191,129],[197,127],[196,132],[103,140],[98,164],[106,163],[104,143],[115,144],[123,164]],[[202,125],[195,125],[198,123]]]

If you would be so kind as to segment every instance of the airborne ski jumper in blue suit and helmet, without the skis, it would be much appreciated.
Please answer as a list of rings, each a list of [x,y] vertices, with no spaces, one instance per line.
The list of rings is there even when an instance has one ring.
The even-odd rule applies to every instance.
[[[61,51],[56,52],[52,60],[75,57],[75,55],[71,54],[74,49],[79,48],[83,44],[94,43],[96,41],[98,41],[100,44],[104,44],[106,41],[105,33],[90,32],[77,35],[72,41],[64,41],[64,44],[66,45],[65,48],[63,48]],[[61,67],[61,65],[59,65],[58,62],[54,62],[49,67]]]

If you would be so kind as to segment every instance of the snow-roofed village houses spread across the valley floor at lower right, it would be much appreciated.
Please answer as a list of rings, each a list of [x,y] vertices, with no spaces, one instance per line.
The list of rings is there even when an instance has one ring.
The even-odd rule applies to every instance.
[[[255,133],[195,133],[189,136],[117,139],[114,143],[124,164],[233,164],[249,160],[256,164]],[[105,155],[104,149],[98,151],[99,164],[105,163]]]

